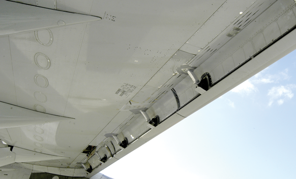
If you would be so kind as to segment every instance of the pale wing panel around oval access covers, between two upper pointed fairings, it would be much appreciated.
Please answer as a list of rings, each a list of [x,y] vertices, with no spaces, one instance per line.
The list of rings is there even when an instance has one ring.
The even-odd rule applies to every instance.
[[[84,31],[85,26],[86,24],[77,24],[51,29],[53,43],[50,46],[38,43],[34,32],[10,36],[18,105],[34,110],[37,104],[41,112],[44,112],[41,107],[43,106],[46,113],[64,115],[83,39],[81,31]],[[42,53],[49,58],[48,69],[37,66],[35,62],[37,53]],[[36,75],[46,78],[48,86],[38,86],[38,82],[35,82]],[[41,80],[39,83],[43,86],[44,79],[38,77],[37,80]],[[36,96],[36,93],[42,94],[47,100],[44,101],[43,97]]]

